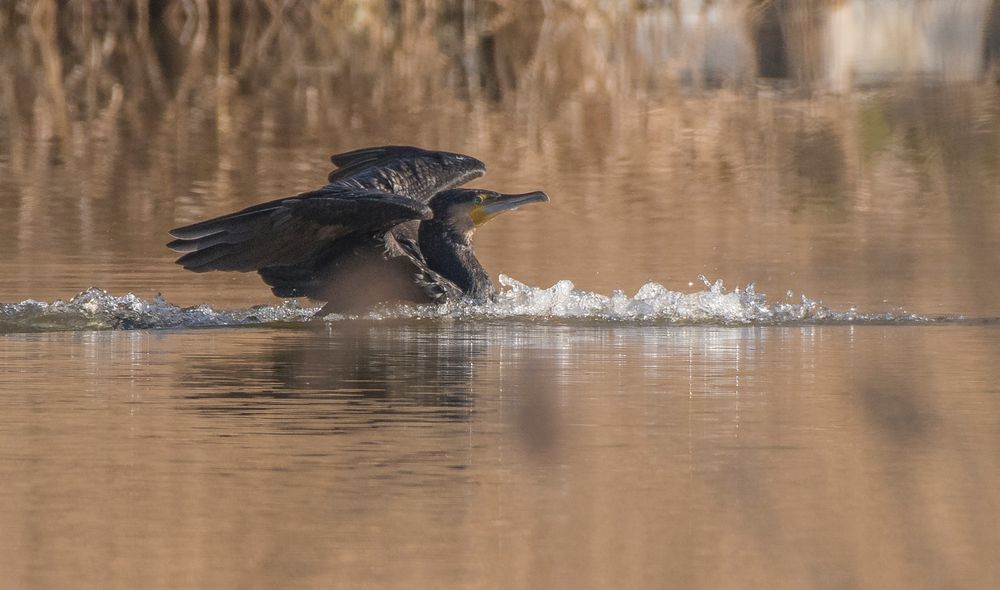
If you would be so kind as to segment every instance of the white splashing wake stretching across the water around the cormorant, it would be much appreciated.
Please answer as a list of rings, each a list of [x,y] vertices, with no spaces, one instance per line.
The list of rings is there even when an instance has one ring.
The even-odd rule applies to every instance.
[[[782,326],[823,324],[930,324],[966,321],[962,316],[925,317],[908,312],[863,313],[832,310],[802,295],[798,301],[769,303],[752,284],[727,291],[721,280],[699,277],[705,289],[671,291],[647,283],[635,295],[622,291],[602,295],[562,280],[549,288],[532,287],[500,275],[500,293],[488,303],[469,301],[441,305],[384,305],[360,316],[331,314],[325,322],[344,320],[594,320],[675,325]],[[792,293],[787,294],[788,298]],[[319,307],[289,300],[246,309],[216,309],[202,304],[178,307],[157,296],[133,293],[116,296],[90,288],[69,301],[51,303],[28,299],[0,304],[0,333],[75,330],[137,330],[254,326],[307,322]]]

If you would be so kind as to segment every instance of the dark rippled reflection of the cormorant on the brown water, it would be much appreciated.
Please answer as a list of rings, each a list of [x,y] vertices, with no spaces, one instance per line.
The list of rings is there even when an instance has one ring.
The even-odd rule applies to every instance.
[[[255,417],[279,412],[277,429],[316,434],[470,418],[474,367],[488,361],[481,358],[485,339],[470,338],[468,326],[344,322],[311,329],[279,331],[259,349],[228,356],[191,354],[179,385],[188,399],[211,403],[184,407]],[[308,420],[288,420],[295,405]]]

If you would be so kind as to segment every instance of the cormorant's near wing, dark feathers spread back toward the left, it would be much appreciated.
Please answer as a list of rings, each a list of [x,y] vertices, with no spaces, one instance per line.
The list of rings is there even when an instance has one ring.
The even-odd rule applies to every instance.
[[[302,264],[338,240],[431,216],[413,198],[326,186],[173,229],[167,246],[186,252],[177,264],[188,270],[247,272]]]

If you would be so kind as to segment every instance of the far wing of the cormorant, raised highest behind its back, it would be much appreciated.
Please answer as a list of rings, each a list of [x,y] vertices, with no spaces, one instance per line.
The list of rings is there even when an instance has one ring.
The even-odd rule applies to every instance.
[[[382,146],[335,154],[329,186],[403,195],[426,203],[440,191],[486,173],[486,165],[463,154],[411,146]]]

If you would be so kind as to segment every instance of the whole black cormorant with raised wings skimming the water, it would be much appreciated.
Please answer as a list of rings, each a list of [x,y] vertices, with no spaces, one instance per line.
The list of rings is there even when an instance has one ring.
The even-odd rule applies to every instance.
[[[504,211],[548,201],[454,188],[482,176],[479,160],[408,146],[330,157],[329,184],[170,231],[194,272],[257,271],[278,297],[325,301],[320,314],[387,301],[496,293],[472,251],[475,229]]]

